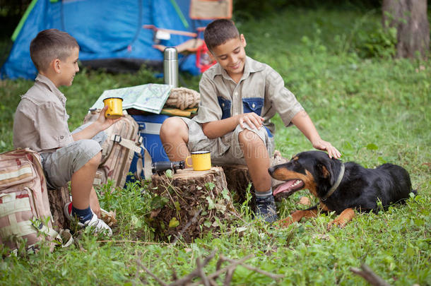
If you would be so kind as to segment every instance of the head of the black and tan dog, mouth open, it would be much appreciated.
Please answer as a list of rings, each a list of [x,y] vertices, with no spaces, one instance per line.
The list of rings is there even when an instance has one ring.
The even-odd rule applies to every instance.
[[[330,159],[322,151],[307,151],[293,156],[289,162],[270,167],[268,172],[271,177],[284,181],[273,191],[273,195],[285,197],[308,189],[321,198],[336,181],[333,176],[336,164],[339,164],[338,160]]]

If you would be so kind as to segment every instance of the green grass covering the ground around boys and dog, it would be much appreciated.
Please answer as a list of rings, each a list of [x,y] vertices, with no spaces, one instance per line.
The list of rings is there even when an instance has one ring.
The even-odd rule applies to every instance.
[[[242,208],[244,232],[206,234],[192,244],[155,242],[145,218],[150,211],[148,195],[130,185],[100,198],[103,208],[116,209],[119,220],[110,242],[83,234],[79,246],[47,249],[26,258],[0,261],[0,284],[132,285],[145,280],[157,285],[137,261],[159,278],[170,281],[196,268],[196,258],[219,254],[240,259],[248,254],[249,265],[285,277],[279,285],[367,285],[350,272],[366,263],[391,285],[431,285],[430,267],[430,78],[429,61],[364,58],[364,30],[378,27],[379,15],[350,11],[281,11],[259,21],[237,21],[247,40],[247,54],[273,66],[297,95],[321,137],[335,145],[344,161],[365,167],[383,162],[402,165],[411,174],[419,196],[406,205],[394,205],[379,214],[357,214],[344,229],[326,230],[334,214],[320,215],[285,230],[254,222]],[[382,36],[386,37],[386,36]],[[389,38],[389,36],[387,36]],[[383,39],[385,40],[385,39]],[[387,39],[386,39],[387,40]],[[374,42],[375,44],[375,42]],[[379,51],[378,44],[375,44]],[[189,88],[199,78],[185,76]],[[81,71],[68,97],[70,129],[81,124],[90,107],[105,89],[143,83],[160,83],[149,71],[111,75]],[[12,148],[13,112],[19,95],[31,81],[0,81],[0,151]],[[290,157],[312,146],[295,127],[285,128],[274,119],[276,148]],[[299,208],[300,191],[280,205],[285,218]],[[216,259],[208,264],[215,271]],[[136,275],[137,273],[137,275]],[[233,285],[276,285],[265,275],[246,268],[235,270]]]

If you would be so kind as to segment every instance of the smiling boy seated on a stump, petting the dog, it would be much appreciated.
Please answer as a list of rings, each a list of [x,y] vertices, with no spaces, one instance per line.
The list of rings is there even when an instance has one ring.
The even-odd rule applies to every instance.
[[[199,83],[199,113],[193,119],[166,119],[160,139],[170,160],[210,150],[215,164],[246,164],[256,191],[256,215],[274,222],[277,214],[268,167],[275,131],[271,118],[276,112],[285,126],[297,126],[314,148],[325,150],[329,157],[341,154],[320,138],[283,78],[246,56],[245,37],[231,20],[210,23],[204,40],[217,64],[203,73]]]

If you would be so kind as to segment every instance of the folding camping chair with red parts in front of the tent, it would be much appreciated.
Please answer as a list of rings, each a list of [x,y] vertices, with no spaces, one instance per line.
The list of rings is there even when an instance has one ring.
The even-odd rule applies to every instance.
[[[175,0],[171,0],[172,5],[175,4]],[[181,11],[177,9],[177,13],[179,13],[180,18],[184,19],[184,26],[188,27],[188,23],[185,20],[184,16],[182,16]],[[177,51],[185,56],[190,54],[196,54],[196,67],[199,68],[199,71],[203,73],[208,68],[215,64],[215,61],[211,59],[208,55],[208,48],[206,47],[205,42],[201,37],[203,30],[205,27],[197,27],[197,21],[201,20],[215,20],[221,18],[232,18],[232,0],[191,0],[190,8],[189,8],[189,18],[191,19],[191,23],[193,27],[189,31],[182,30],[171,30],[165,28],[158,28],[155,25],[143,25],[143,28],[151,29],[154,32],[153,41],[155,44],[153,47],[155,49],[159,49],[161,52],[165,49],[165,45],[162,43],[164,41],[170,40],[170,35],[183,35],[187,37],[191,37],[191,39],[182,42],[181,44],[176,45]],[[187,25],[186,25],[187,24]]]

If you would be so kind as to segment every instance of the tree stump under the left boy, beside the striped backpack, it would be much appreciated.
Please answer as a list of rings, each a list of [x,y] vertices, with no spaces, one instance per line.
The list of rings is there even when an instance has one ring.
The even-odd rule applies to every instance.
[[[64,205],[70,203],[69,186],[48,190],[49,208],[51,209],[53,226],[59,230],[69,228],[69,220],[64,215]]]

